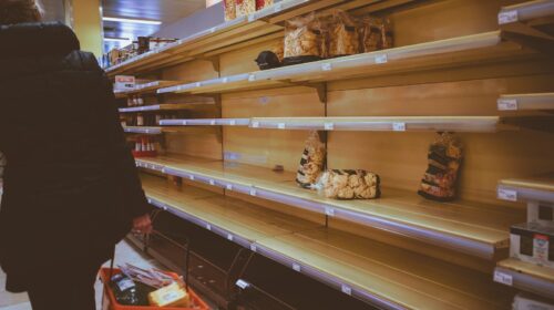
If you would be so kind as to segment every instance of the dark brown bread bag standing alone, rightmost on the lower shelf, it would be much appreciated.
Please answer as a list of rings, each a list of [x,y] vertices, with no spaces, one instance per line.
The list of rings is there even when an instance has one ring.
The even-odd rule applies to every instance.
[[[418,194],[439,202],[454,199],[462,157],[463,147],[460,140],[450,133],[440,134],[429,146],[429,164]]]

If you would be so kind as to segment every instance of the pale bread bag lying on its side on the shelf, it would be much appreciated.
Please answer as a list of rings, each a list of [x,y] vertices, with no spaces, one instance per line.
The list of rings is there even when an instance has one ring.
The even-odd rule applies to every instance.
[[[327,198],[373,199],[381,196],[379,175],[360,169],[329,169],[321,175],[316,187]]]

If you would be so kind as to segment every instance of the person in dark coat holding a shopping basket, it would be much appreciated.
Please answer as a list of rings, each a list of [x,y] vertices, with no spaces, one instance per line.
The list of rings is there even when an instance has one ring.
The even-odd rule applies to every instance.
[[[40,17],[34,0],[0,0],[0,266],[34,310],[92,310],[115,244],[152,229],[148,205],[109,79]]]

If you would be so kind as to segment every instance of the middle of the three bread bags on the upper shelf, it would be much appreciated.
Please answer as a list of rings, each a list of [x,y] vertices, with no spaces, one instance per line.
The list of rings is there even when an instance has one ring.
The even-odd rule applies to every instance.
[[[358,24],[347,12],[336,10],[327,24],[328,55],[352,55],[359,52]]]

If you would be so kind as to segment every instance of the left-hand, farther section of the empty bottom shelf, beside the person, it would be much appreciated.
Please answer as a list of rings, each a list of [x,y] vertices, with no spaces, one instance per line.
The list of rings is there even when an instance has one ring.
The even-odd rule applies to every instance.
[[[254,241],[320,226],[209,190],[177,189],[155,176],[142,175],[142,184],[151,204],[247,248]]]

